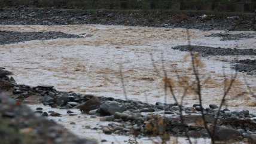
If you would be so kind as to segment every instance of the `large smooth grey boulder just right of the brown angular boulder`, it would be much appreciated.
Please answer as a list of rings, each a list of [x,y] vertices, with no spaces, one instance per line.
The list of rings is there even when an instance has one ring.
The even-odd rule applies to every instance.
[[[108,101],[100,105],[100,115],[114,115],[115,112],[126,111],[126,106],[118,105],[116,102]]]

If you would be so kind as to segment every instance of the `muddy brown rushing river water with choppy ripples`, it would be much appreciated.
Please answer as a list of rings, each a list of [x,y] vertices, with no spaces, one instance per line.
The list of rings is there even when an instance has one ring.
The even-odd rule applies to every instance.
[[[35,40],[0,45],[0,66],[13,71],[14,78],[19,84],[54,85],[57,90],[61,91],[75,91],[120,99],[124,99],[123,89],[125,88],[128,99],[149,103],[173,103],[174,100],[169,93],[167,93],[166,100],[164,99],[163,72],[165,71],[171,78],[177,73],[181,76],[193,77],[189,70],[191,65],[189,57],[185,59],[188,54],[170,48],[188,44],[185,29],[105,25],[1,25],[1,30],[60,31],[92,35],[86,38]],[[221,38],[205,37],[205,35],[220,32],[223,31],[189,30],[191,44],[225,48],[255,48],[256,46],[254,38],[220,41]],[[223,70],[227,77],[234,73],[230,68],[230,62],[233,59],[255,59],[255,56],[202,57],[205,67],[201,69],[200,76],[211,77],[214,81],[212,85],[202,84],[205,106],[210,103],[217,105],[220,103],[223,95]],[[120,75],[123,75],[123,84]],[[239,73],[238,82],[227,97],[227,105],[230,109],[248,109],[255,114],[256,109],[252,107],[252,103],[256,103],[256,100],[249,94],[243,81],[244,78],[247,79],[251,90],[256,90],[255,76]],[[181,90],[177,90],[176,93],[180,98]],[[184,105],[191,106],[194,103],[198,103],[198,98],[188,94]],[[89,117],[74,118],[74,120],[70,117],[62,117],[62,121],[67,122],[66,127],[71,128],[74,133],[84,136],[84,129],[80,126],[83,122],[93,120]],[[71,126],[68,124],[69,121],[79,124]],[[90,130],[89,133],[91,133]],[[95,136],[96,133],[92,134]],[[88,136],[88,133],[85,135]],[[97,136],[94,138],[97,139]],[[129,137],[122,139],[129,139]],[[145,141],[145,143],[148,142]]]

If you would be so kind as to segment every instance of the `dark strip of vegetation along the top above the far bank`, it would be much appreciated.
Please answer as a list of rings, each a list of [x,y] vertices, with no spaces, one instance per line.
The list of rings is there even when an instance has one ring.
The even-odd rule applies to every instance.
[[[255,1],[228,0],[0,0],[1,7],[55,7],[106,10],[206,10],[252,13]]]

